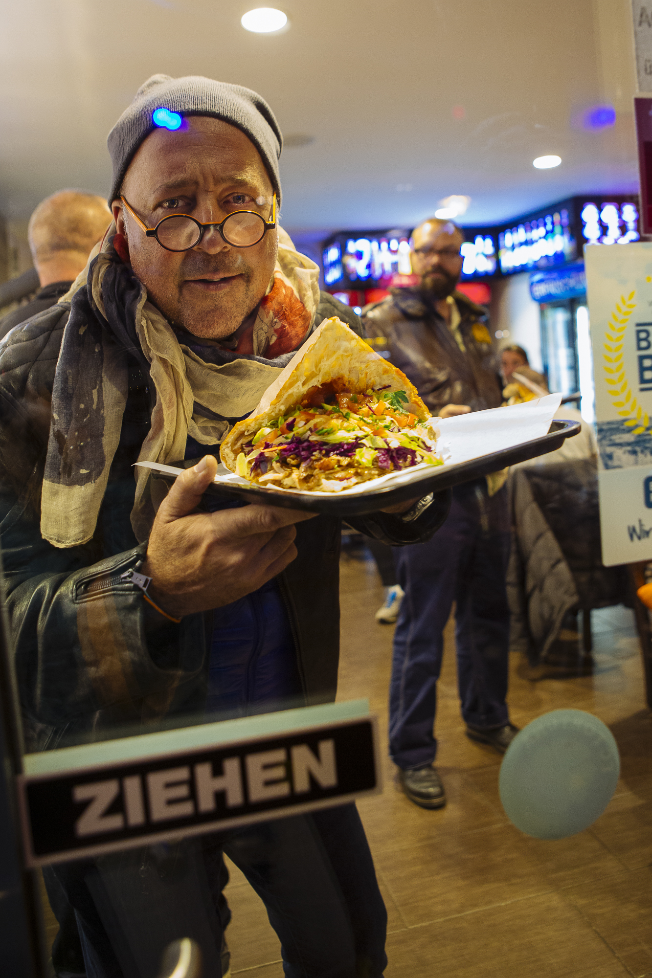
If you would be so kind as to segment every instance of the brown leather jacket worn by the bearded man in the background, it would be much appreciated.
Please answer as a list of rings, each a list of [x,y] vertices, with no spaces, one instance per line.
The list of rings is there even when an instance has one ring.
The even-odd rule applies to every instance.
[[[389,353],[434,415],[446,404],[468,404],[473,411],[483,411],[502,403],[487,311],[461,292],[454,292],[453,298],[465,352],[419,289],[395,289],[390,298],[362,310],[374,348]]]

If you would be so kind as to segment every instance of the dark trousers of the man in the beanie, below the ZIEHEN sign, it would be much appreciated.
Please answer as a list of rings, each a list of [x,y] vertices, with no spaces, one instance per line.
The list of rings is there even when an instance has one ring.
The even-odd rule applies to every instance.
[[[70,902],[88,978],[153,978],[181,937],[219,978],[231,916],[222,852],[264,902],[287,978],[382,978],[387,911],[352,804],[45,867],[48,892],[63,886]]]

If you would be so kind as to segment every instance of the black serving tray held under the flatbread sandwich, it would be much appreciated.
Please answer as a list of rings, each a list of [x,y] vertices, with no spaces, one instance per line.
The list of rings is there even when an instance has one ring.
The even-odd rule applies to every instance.
[[[288,490],[272,489],[266,486],[251,485],[220,485],[211,482],[207,493],[220,496],[222,499],[244,499],[249,503],[264,503],[266,506],[281,506],[287,510],[308,510],[324,512],[329,515],[359,516],[366,512],[377,512],[386,507],[404,503],[410,499],[419,499],[430,492],[442,492],[461,482],[489,475],[489,472],[499,471],[507,466],[515,466],[519,462],[536,459],[538,455],[546,455],[559,448],[567,438],[579,434],[580,422],[569,422],[554,419],[548,430],[540,438],[525,441],[512,448],[500,452],[483,455],[479,459],[471,459],[455,466],[440,466],[435,469],[420,469],[414,473],[414,478],[399,486],[390,483],[379,486],[378,489],[367,491],[362,496],[342,496],[334,493],[332,496],[314,496],[309,492],[289,492]],[[173,482],[182,471],[182,467],[167,467],[166,472],[152,470],[155,478],[163,478]]]

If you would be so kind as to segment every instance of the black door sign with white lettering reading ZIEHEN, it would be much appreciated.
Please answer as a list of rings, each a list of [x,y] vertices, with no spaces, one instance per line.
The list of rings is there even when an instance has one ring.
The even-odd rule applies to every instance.
[[[380,790],[375,718],[19,778],[30,866],[343,804]]]

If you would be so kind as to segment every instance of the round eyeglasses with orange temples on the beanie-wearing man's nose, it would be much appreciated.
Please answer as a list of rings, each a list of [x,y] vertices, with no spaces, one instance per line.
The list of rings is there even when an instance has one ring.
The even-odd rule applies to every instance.
[[[209,228],[216,228],[227,244],[251,247],[262,241],[267,232],[276,227],[276,194],[272,199],[271,221],[265,221],[256,210],[234,210],[220,224],[202,224],[190,214],[169,214],[159,221],[156,228],[148,228],[129,202],[123,197],[120,200],[146,236],[156,238],[166,251],[189,251],[202,241]]]

